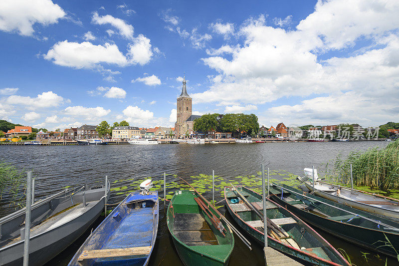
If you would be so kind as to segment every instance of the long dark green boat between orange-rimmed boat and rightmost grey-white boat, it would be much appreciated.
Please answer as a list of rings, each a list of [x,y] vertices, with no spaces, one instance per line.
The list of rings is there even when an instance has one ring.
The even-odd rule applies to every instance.
[[[399,250],[399,223],[286,185],[271,184],[270,194],[273,201],[307,223],[356,245],[397,258],[394,248]],[[386,237],[393,247],[385,245]]]

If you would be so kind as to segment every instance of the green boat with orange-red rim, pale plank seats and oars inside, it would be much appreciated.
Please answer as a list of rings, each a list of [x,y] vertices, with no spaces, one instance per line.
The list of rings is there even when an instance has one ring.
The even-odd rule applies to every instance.
[[[256,209],[263,210],[260,194],[241,186],[237,189]],[[258,243],[264,245],[263,221],[259,220],[259,216],[242,201],[234,189],[225,187],[224,197],[226,208],[235,222]],[[269,247],[311,265],[350,266],[333,246],[294,214],[268,199],[266,210],[267,218],[279,228],[277,235],[268,225]]]

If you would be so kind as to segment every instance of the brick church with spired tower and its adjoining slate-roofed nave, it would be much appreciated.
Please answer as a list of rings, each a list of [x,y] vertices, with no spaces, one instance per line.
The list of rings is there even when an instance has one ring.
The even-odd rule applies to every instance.
[[[192,138],[194,132],[194,120],[201,117],[193,115],[193,99],[187,93],[186,75],[183,77],[182,93],[177,98],[177,116],[175,123],[175,132],[177,138]]]

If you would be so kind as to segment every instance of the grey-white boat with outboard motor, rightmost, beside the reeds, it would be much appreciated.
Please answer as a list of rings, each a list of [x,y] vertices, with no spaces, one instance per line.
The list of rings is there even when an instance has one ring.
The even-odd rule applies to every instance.
[[[305,186],[310,191],[313,190],[312,182],[306,181]],[[399,221],[399,202],[395,200],[321,181],[315,182],[314,194],[361,211]]]

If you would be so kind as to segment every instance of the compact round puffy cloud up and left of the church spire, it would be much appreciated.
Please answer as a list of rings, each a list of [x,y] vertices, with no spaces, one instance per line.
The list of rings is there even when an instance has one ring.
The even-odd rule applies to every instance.
[[[145,65],[150,62],[153,52],[151,50],[150,39],[140,34],[129,45],[128,57],[133,64]]]

